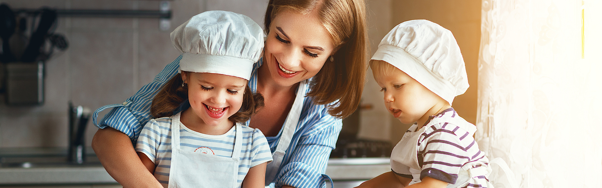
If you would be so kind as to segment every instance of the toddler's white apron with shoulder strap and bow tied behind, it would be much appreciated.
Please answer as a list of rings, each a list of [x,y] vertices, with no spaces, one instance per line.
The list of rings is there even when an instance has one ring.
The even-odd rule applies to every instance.
[[[391,169],[394,172],[399,174],[408,174],[414,175],[414,178],[411,183],[415,184],[420,181],[420,172],[422,171],[422,166],[418,163],[418,139],[420,135],[426,131],[431,125],[439,124],[441,122],[449,122],[450,124],[461,126],[462,124],[467,124],[467,122],[462,122],[458,118],[453,117],[436,117],[429,122],[429,124],[424,125],[420,130],[414,132],[406,132],[403,134],[402,140],[397,143],[397,145],[393,148],[391,152]],[[471,125],[474,126],[474,125]],[[514,181],[514,174],[508,168],[506,162],[504,162],[501,158],[495,158],[494,160],[489,161],[489,165],[481,164],[482,166],[478,168],[473,168],[473,164],[467,164],[462,166],[460,171],[458,172],[458,179],[455,184],[448,184],[447,188],[455,188],[455,187],[464,187],[471,180],[471,178],[485,176],[491,173],[491,164],[498,164],[500,168],[506,173],[506,177],[508,177],[508,181],[510,187],[518,188],[517,184]],[[413,173],[412,173],[413,172]],[[486,185],[488,188],[494,188],[491,183]]]

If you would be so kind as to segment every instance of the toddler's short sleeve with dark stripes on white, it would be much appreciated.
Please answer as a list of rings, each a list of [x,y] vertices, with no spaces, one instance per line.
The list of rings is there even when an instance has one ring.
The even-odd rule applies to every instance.
[[[433,125],[429,130],[423,133],[420,144],[424,149],[418,153],[418,161],[422,161],[420,180],[431,177],[455,184],[460,169],[474,155],[470,153],[479,147],[473,137],[465,136],[467,131],[455,125],[448,124],[445,128]]]

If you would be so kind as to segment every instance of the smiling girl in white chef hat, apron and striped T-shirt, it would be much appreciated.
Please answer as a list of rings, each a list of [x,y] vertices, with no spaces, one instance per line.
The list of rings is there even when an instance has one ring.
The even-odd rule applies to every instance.
[[[264,45],[259,25],[206,11],[176,28],[180,74],[152,101],[136,151],[164,187],[264,187],[272,154],[265,136],[240,124],[263,105],[247,81]],[[175,113],[185,100],[190,107]],[[175,113],[175,114],[174,114]]]

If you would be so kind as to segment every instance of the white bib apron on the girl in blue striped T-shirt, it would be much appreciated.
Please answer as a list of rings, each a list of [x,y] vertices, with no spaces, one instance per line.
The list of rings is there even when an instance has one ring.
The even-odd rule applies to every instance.
[[[172,164],[169,188],[238,187],[238,164],[241,151],[241,125],[236,124],[232,157],[180,149],[180,113],[172,119]]]

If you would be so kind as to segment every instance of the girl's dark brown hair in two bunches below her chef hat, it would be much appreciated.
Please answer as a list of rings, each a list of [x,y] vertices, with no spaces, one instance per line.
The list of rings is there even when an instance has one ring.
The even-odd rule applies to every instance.
[[[182,76],[176,74],[161,87],[161,90],[152,99],[151,115],[153,117],[173,116],[174,111],[188,99],[188,87],[186,85],[182,87],[182,83],[184,83]],[[253,113],[264,105],[264,99],[261,94],[252,93],[249,86],[244,91],[243,105],[237,113],[228,117],[230,121],[246,122]]]

